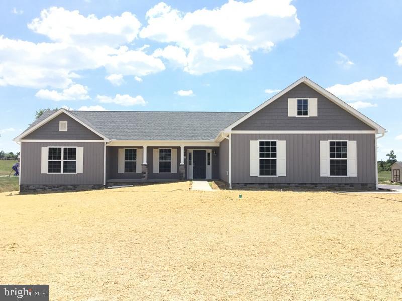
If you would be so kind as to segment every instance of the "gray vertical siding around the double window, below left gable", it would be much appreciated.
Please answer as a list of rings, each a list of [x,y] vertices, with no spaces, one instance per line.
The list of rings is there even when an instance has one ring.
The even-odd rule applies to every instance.
[[[102,185],[104,178],[104,143],[22,142],[22,185]],[[41,174],[41,152],[45,146],[83,147],[82,174]]]

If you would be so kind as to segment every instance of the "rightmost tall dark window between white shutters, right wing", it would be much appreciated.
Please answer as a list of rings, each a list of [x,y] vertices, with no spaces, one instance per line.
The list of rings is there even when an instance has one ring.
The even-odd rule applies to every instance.
[[[347,145],[347,141],[330,141],[330,176],[348,175]]]

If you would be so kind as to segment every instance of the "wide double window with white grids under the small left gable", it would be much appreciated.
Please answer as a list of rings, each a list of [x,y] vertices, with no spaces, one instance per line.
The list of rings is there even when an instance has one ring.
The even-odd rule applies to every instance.
[[[48,173],[74,174],[77,168],[76,147],[49,147]]]

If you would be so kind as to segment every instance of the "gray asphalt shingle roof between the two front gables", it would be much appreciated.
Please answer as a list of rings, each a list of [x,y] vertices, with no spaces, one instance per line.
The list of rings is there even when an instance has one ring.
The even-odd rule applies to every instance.
[[[54,112],[45,112],[30,127]],[[247,112],[70,111],[116,140],[213,140]],[[29,128],[30,128],[29,127]]]

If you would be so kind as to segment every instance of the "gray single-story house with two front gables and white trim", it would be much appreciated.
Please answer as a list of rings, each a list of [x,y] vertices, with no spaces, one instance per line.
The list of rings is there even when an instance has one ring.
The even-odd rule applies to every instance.
[[[221,179],[375,189],[386,130],[303,77],[251,112],[46,112],[15,138],[20,191]]]

